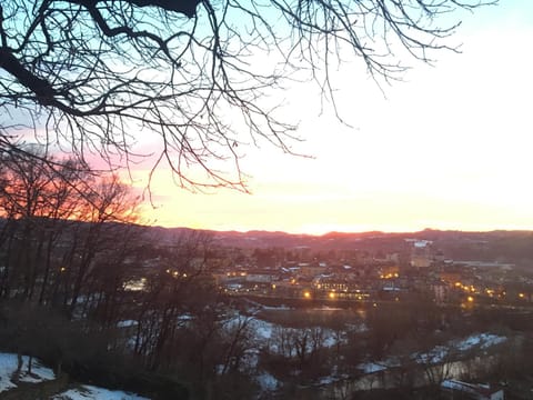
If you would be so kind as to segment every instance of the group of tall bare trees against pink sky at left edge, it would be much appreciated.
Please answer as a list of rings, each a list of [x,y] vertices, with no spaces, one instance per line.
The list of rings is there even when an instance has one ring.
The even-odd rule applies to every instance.
[[[137,221],[137,198],[115,176],[89,173],[78,162],[54,160],[39,148],[24,151],[1,154],[1,293],[62,303],[70,313],[82,287],[86,306],[98,293],[115,293],[124,280],[124,260],[137,243],[132,232],[140,232],[131,224]],[[89,282],[90,273],[97,267],[102,272],[104,263],[108,277],[101,273],[98,283]],[[110,276],[113,279],[105,279]]]

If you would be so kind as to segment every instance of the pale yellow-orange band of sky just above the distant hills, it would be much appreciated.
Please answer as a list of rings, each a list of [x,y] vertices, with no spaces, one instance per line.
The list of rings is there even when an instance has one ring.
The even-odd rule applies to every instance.
[[[320,186],[316,191],[320,192]],[[217,194],[190,193],[167,189],[155,207],[141,209],[143,223],[165,228],[187,227],[214,231],[284,231],[321,236],[329,232],[415,232],[424,229],[491,231],[532,230],[533,213],[486,203],[450,204],[410,196],[398,197],[396,204],[378,200],[343,198],[312,199],[304,192],[302,202],[279,199],[269,193],[243,194],[221,191]],[[489,220],[486,216],[491,216]]]

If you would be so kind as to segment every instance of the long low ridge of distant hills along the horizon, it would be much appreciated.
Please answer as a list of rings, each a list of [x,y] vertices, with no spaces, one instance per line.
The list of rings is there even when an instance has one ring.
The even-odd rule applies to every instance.
[[[0,218],[0,229],[6,220]],[[66,221],[68,226],[83,222]],[[115,223],[120,229],[120,223]],[[141,227],[147,240],[171,244],[183,234],[207,232],[220,247],[265,249],[293,249],[308,247],[313,251],[363,250],[394,252],[405,249],[405,239],[432,241],[433,249],[454,260],[481,260],[513,262],[533,266],[533,231],[494,230],[489,232],[464,232],[459,230],[424,229],[419,232],[388,233],[329,232],[322,236],[292,234],[281,231],[253,230],[249,232],[194,230],[191,228]]]

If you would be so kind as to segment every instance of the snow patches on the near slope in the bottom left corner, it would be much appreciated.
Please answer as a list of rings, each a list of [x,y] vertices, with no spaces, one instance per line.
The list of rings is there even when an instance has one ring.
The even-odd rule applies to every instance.
[[[29,357],[22,356],[22,369],[20,381],[29,383],[39,383],[47,380],[56,379],[56,374],[50,368],[41,364],[37,359],[31,363],[31,376],[27,373]],[[13,372],[17,370],[17,354],[0,352],[0,392],[17,388],[11,381]],[[127,393],[120,390],[107,390],[93,386],[82,386],[79,389],[71,389],[63,393],[57,394],[54,400],[148,400],[147,398]]]

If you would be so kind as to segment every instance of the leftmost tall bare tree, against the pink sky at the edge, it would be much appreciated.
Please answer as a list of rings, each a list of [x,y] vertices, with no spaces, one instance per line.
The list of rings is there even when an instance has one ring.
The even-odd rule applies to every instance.
[[[0,216],[4,218],[0,248],[4,297],[44,301],[51,277],[52,250],[66,220],[80,206],[86,169],[72,160],[48,158],[41,148],[23,154],[1,154]]]

